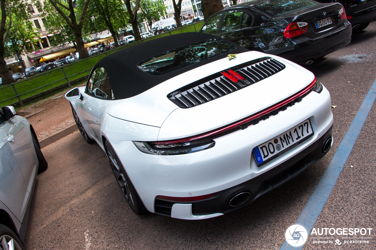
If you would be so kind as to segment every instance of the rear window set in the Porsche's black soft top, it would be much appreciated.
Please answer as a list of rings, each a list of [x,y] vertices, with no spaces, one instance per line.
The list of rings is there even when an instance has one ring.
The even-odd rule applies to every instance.
[[[137,67],[150,75],[162,75],[228,53],[235,48],[226,41],[209,39],[153,56],[139,63]]]

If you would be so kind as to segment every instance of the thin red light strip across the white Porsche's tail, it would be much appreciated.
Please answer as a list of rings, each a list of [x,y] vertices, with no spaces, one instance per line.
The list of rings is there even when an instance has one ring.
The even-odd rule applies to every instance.
[[[225,73],[225,72],[223,72],[223,73]],[[231,130],[233,128],[239,127],[239,126],[241,126],[241,125],[243,125],[247,122],[250,122],[254,119],[257,119],[261,116],[264,116],[265,114],[270,113],[271,111],[274,111],[274,110],[288,104],[289,102],[293,101],[294,99],[298,98],[299,96],[302,96],[305,93],[309,92],[312,89],[312,87],[315,86],[315,84],[316,84],[316,78],[308,86],[306,86],[304,89],[300,90],[299,92],[290,96],[289,98],[285,99],[284,101],[281,101],[281,102],[267,108],[264,111],[260,111],[256,114],[253,114],[252,116],[249,116],[248,118],[245,118],[243,120],[239,120],[238,122],[235,122],[233,124],[227,125],[227,126],[222,127],[222,128],[219,128],[217,130],[212,130],[212,131],[209,131],[205,134],[200,134],[200,135],[189,137],[189,138],[183,138],[183,139],[178,139],[178,140],[170,140],[170,141],[160,141],[160,142],[153,142],[153,143],[155,143],[156,145],[169,145],[169,144],[176,144],[176,143],[184,143],[184,142],[199,140],[199,139],[202,139],[204,137],[214,136],[216,134],[226,132],[226,131]]]

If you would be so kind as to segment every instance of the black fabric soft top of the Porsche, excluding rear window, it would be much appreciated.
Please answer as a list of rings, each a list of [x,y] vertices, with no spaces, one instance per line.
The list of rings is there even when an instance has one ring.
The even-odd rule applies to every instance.
[[[100,59],[93,69],[97,67],[105,68],[109,75],[115,99],[125,99],[143,93],[159,83],[190,71],[191,69],[225,58],[227,54],[239,54],[249,51],[240,45],[224,40],[235,45],[235,50],[188,65],[167,74],[150,75],[137,67],[140,62],[158,54],[208,39],[224,40],[217,36],[198,32],[186,32],[164,36],[124,48],[121,51],[106,56]]]

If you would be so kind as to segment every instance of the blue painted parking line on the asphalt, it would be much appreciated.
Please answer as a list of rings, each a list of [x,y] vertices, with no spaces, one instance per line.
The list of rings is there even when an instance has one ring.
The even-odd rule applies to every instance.
[[[340,146],[335,152],[329,166],[327,167],[323,177],[318,183],[315,191],[309,198],[305,208],[297,219],[296,223],[302,224],[308,230],[308,234],[311,232],[318,215],[320,215],[329,194],[332,192],[335,182],[340,176],[340,173],[345,165],[347,158],[352,151],[356,139],[363,127],[365,119],[367,119],[368,113],[371,110],[373,102],[376,98],[376,80],[373,82],[371,89],[368,91],[367,96],[365,96],[362,105],[360,106],[354,120],[352,121],[349,130],[345,137],[343,138]],[[304,246],[304,245],[303,245]],[[302,247],[303,247],[302,246]],[[302,249],[302,247],[291,247],[285,241],[280,250],[287,249]]]

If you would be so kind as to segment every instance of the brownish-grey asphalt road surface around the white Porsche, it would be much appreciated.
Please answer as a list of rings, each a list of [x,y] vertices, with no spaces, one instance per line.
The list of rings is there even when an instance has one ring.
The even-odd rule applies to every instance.
[[[306,66],[329,89],[334,144],[301,175],[246,208],[186,221],[134,214],[105,153],[78,132],[42,149],[49,168],[36,179],[26,232],[27,250],[39,249],[279,249],[296,223],[376,78],[376,22],[349,45]],[[376,105],[329,195],[315,228],[373,228],[368,243],[313,243],[302,249],[376,249]],[[358,234],[359,235],[359,234]],[[317,237],[317,236],[316,236]],[[355,236],[348,236],[355,237]],[[366,237],[366,236],[357,236]]]

